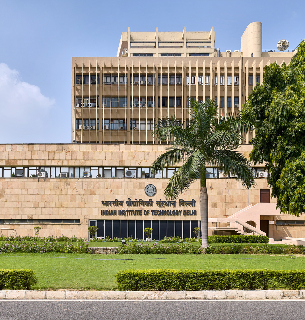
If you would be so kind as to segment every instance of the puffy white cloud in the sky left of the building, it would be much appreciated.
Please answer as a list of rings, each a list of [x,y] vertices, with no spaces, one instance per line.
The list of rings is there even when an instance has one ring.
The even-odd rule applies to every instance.
[[[17,70],[0,63],[0,143],[35,142],[23,141],[36,134],[28,124],[45,122],[54,105],[55,100],[45,97],[38,86],[21,81]]]

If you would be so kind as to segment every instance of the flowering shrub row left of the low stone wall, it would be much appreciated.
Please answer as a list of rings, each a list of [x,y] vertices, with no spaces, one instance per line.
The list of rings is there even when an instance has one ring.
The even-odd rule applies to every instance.
[[[79,242],[76,245],[71,242],[58,242],[44,240],[41,243],[33,241],[5,241],[0,243],[0,252],[61,252],[61,253],[86,253],[88,252],[88,243]]]

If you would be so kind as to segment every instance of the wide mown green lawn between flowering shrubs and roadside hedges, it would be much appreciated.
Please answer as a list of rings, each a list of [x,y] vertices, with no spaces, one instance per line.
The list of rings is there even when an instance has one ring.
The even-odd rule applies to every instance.
[[[38,284],[34,287],[36,290],[117,290],[115,274],[119,270],[157,268],[304,269],[305,256],[294,258],[286,255],[253,254],[90,255],[2,253],[0,254],[0,268],[33,269],[38,279]]]

